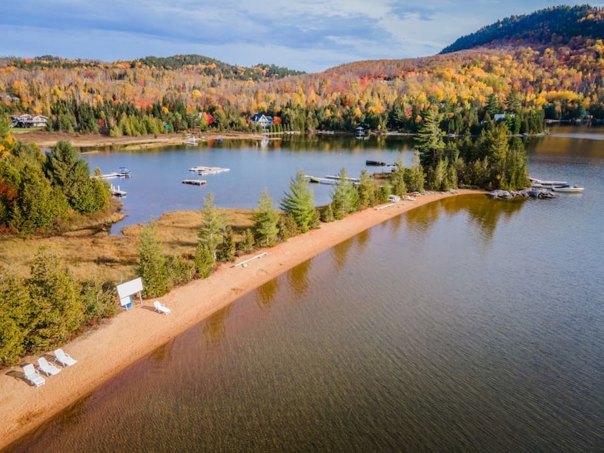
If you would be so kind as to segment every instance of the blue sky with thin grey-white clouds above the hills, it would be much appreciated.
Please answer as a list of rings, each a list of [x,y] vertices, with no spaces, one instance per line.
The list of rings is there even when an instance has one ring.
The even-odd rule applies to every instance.
[[[498,19],[559,4],[585,1],[7,0],[0,57],[115,62],[200,54],[321,72],[359,60],[432,56]]]

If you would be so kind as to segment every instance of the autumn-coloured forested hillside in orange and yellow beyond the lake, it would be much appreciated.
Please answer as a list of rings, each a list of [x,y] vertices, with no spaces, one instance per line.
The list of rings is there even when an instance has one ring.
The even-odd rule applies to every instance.
[[[602,10],[591,7],[550,8],[502,21],[502,30],[533,24],[505,45],[361,61],[316,74],[240,68],[202,56],[114,63],[5,59],[0,114],[42,114],[51,130],[111,135],[253,131],[259,130],[251,122],[257,112],[274,117],[275,130],[352,131],[362,124],[417,132],[426,111],[437,106],[447,133],[475,135],[483,121],[506,113],[513,114],[510,132],[538,133],[544,118],[574,120],[586,111],[604,118],[601,17]],[[554,24],[562,23],[571,26],[558,39]],[[539,33],[539,43],[525,40]]]

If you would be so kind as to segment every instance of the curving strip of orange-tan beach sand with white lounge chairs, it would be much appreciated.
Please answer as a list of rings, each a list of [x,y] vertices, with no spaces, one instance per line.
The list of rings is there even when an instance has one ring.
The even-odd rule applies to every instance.
[[[460,190],[458,193],[476,191]],[[371,226],[447,196],[451,194],[431,193],[417,196],[416,201],[402,201],[381,210],[369,208],[343,220],[321,223],[317,230],[237,259],[237,262],[242,262],[267,252],[262,258],[251,260],[247,266],[233,267],[233,263],[222,263],[209,278],[192,281],[160,298],[172,310],[169,315],[155,312],[153,300],[133,303],[129,310],[63,345],[63,350],[77,359],[77,364],[63,368],[56,376],[46,377],[46,384],[41,387],[32,387],[22,379],[21,366],[2,370],[0,448],[90,393],[137,359],[266,281]],[[48,353],[52,355],[51,351]],[[37,358],[24,358],[21,365],[32,363],[37,366]]]

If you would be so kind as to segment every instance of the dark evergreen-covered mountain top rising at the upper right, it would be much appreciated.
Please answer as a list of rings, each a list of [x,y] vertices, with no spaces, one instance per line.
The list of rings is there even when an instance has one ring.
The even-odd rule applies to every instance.
[[[604,39],[604,9],[590,5],[556,6],[532,14],[510,16],[462,36],[441,54],[490,43],[525,42],[542,45],[582,45],[585,39]]]

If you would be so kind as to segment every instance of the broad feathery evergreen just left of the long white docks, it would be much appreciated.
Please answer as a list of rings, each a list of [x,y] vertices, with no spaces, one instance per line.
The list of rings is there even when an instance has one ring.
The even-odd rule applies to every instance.
[[[300,233],[306,233],[318,222],[315,210],[315,197],[308,187],[304,172],[299,171],[289,182],[289,191],[281,199],[281,209],[289,214]],[[283,234],[283,230],[281,230]]]

